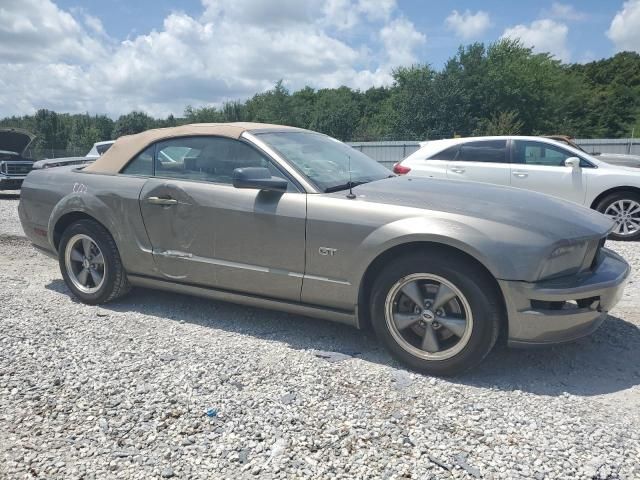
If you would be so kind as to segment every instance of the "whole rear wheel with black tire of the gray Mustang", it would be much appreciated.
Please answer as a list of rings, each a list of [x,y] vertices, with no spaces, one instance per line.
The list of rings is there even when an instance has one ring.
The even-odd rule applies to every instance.
[[[58,262],[65,283],[84,303],[106,303],[129,290],[115,241],[94,220],[79,220],[67,227],[58,246]]]

